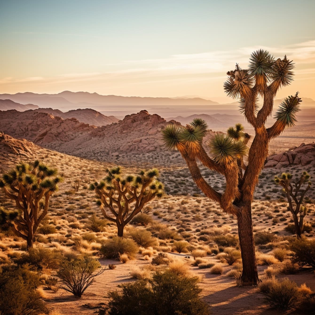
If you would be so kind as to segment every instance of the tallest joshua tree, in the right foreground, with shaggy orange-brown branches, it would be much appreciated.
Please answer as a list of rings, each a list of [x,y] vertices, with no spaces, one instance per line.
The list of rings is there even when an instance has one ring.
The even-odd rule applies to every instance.
[[[240,111],[254,127],[255,136],[248,150],[249,136],[236,125],[228,130],[228,135],[216,135],[210,143],[211,158],[202,146],[207,125],[202,120],[194,120],[185,128],[169,125],[163,129],[163,139],[167,147],[176,148],[186,161],[196,185],[210,199],[218,202],[227,213],[236,216],[242,252],[242,281],[244,285],[257,284],[258,273],[251,216],[251,202],[258,176],[268,155],[268,144],[280,135],[285,127],[296,122],[295,113],[299,110],[300,98],[289,96],[279,106],[275,123],[265,127],[267,117],[272,114],[273,100],[280,87],[292,81],[294,65],[286,56],[275,60],[267,51],[258,50],[251,54],[248,69],[236,64],[235,70],[227,72],[224,83],[227,95],[239,99]],[[263,97],[263,105],[258,108],[258,99]],[[197,164],[199,160],[207,168],[216,171],[226,179],[223,194],[217,192],[204,180]]]

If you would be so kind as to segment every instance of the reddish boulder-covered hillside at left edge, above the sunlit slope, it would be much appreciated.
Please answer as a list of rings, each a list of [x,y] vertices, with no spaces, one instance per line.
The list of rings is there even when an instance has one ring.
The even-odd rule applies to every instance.
[[[0,111],[0,130],[15,138],[26,138],[41,146],[58,147],[95,129],[76,118],[62,119],[36,111]]]

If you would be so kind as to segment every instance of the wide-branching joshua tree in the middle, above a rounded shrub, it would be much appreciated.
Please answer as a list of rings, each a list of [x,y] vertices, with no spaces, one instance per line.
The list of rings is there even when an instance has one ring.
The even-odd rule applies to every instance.
[[[139,175],[127,175],[120,178],[120,167],[107,170],[108,175],[100,183],[90,185],[99,198],[97,204],[109,221],[115,222],[118,236],[123,236],[124,227],[137,215],[143,206],[155,196],[161,197],[163,185],[156,180],[157,169],[141,171]]]

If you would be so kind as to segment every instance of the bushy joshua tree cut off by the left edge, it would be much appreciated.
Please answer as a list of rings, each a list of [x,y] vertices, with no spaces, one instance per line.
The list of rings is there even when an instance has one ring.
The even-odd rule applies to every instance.
[[[49,198],[58,189],[62,177],[56,169],[35,161],[16,165],[0,180],[4,194],[15,202],[16,210],[0,209],[0,225],[11,229],[33,247],[39,223],[48,212]]]

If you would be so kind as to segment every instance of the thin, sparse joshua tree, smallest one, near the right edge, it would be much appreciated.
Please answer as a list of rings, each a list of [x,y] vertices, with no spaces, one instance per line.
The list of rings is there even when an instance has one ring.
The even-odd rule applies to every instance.
[[[305,206],[302,206],[302,203],[306,192],[312,185],[309,178],[310,175],[308,175],[305,171],[297,181],[292,180],[292,175],[290,173],[282,173],[280,177],[275,176],[275,182],[283,187],[283,190],[287,195],[289,203],[288,209],[291,211],[293,216],[297,238],[301,238],[301,233],[303,233],[304,227],[303,220],[307,215],[307,209]],[[302,186],[304,186],[304,189],[302,189]]]

